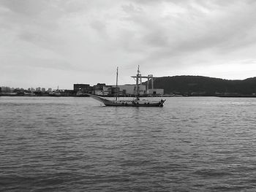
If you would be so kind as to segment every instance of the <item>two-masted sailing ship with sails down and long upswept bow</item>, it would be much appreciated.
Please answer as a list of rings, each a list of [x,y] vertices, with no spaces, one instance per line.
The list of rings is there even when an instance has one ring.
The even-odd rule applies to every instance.
[[[141,74],[140,74],[140,66],[138,66],[138,71],[136,76],[132,76],[136,80],[135,85],[135,99],[132,100],[119,100],[118,99],[118,93],[116,93],[116,99],[110,100],[106,99],[102,96],[97,95],[91,95],[89,96],[93,99],[96,99],[97,101],[101,101],[105,106],[114,106],[114,107],[163,107],[165,100],[161,99],[159,101],[148,101],[145,99],[140,99],[140,86],[139,86],[139,80],[141,80]],[[116,70],[116,91],[118,90],[118,68]]]

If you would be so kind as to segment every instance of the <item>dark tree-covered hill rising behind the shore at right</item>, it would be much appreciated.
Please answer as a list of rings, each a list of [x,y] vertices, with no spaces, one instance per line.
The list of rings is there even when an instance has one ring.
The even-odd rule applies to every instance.
[[[203,76],[159,77],[154,79],[154,88],[163,88],[165,94],[188,96],[249,96],[256,93],[256,77],[246,80]]]

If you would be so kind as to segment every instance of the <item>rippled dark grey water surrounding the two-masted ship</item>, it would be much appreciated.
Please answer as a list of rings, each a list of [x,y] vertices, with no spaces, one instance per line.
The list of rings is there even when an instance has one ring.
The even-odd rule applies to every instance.
[[[256,191],[256,99],[0,97],[0,191]]]

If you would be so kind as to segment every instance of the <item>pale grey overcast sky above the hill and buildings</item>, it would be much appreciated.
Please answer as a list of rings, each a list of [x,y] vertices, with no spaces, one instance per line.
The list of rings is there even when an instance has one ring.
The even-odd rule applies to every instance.
[[[0,0],[0,86],[256,76],[255,0]]]

